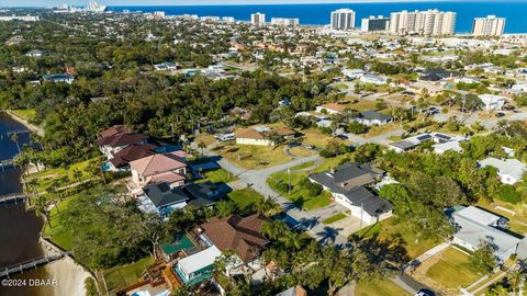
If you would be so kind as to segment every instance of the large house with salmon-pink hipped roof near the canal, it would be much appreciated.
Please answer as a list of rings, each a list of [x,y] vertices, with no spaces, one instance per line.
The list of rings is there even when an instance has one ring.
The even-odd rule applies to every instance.
[[[176,153],[153,155],[130,162],[132,182],[137,187],[166,182],[171,187],[182,186],[186,181],[187,163]]]

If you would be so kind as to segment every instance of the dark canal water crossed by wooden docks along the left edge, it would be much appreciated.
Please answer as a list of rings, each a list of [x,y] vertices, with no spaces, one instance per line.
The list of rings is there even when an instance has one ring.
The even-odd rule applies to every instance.
[[[0,112],[0,160],[13,158],[19,148],[10,133],[23,132],[27,128],[12,119],[8,114]],[[30,143],[27,133],[19,134],[19,147]],[[22,171],[20,169],[0,169],[0,195],[22,191],[20,184]],[[0,203],[0,267],[10,266],[22,261],[43,255],[38,244],[38,234],[43,220],[35,213],[26,212],[22,203]],[[45,269],[37,269],[12,278],[49,278]],[[44,296],[53,295],[44,287],[4,287],[0,285],[0,295],[12,296]]]

